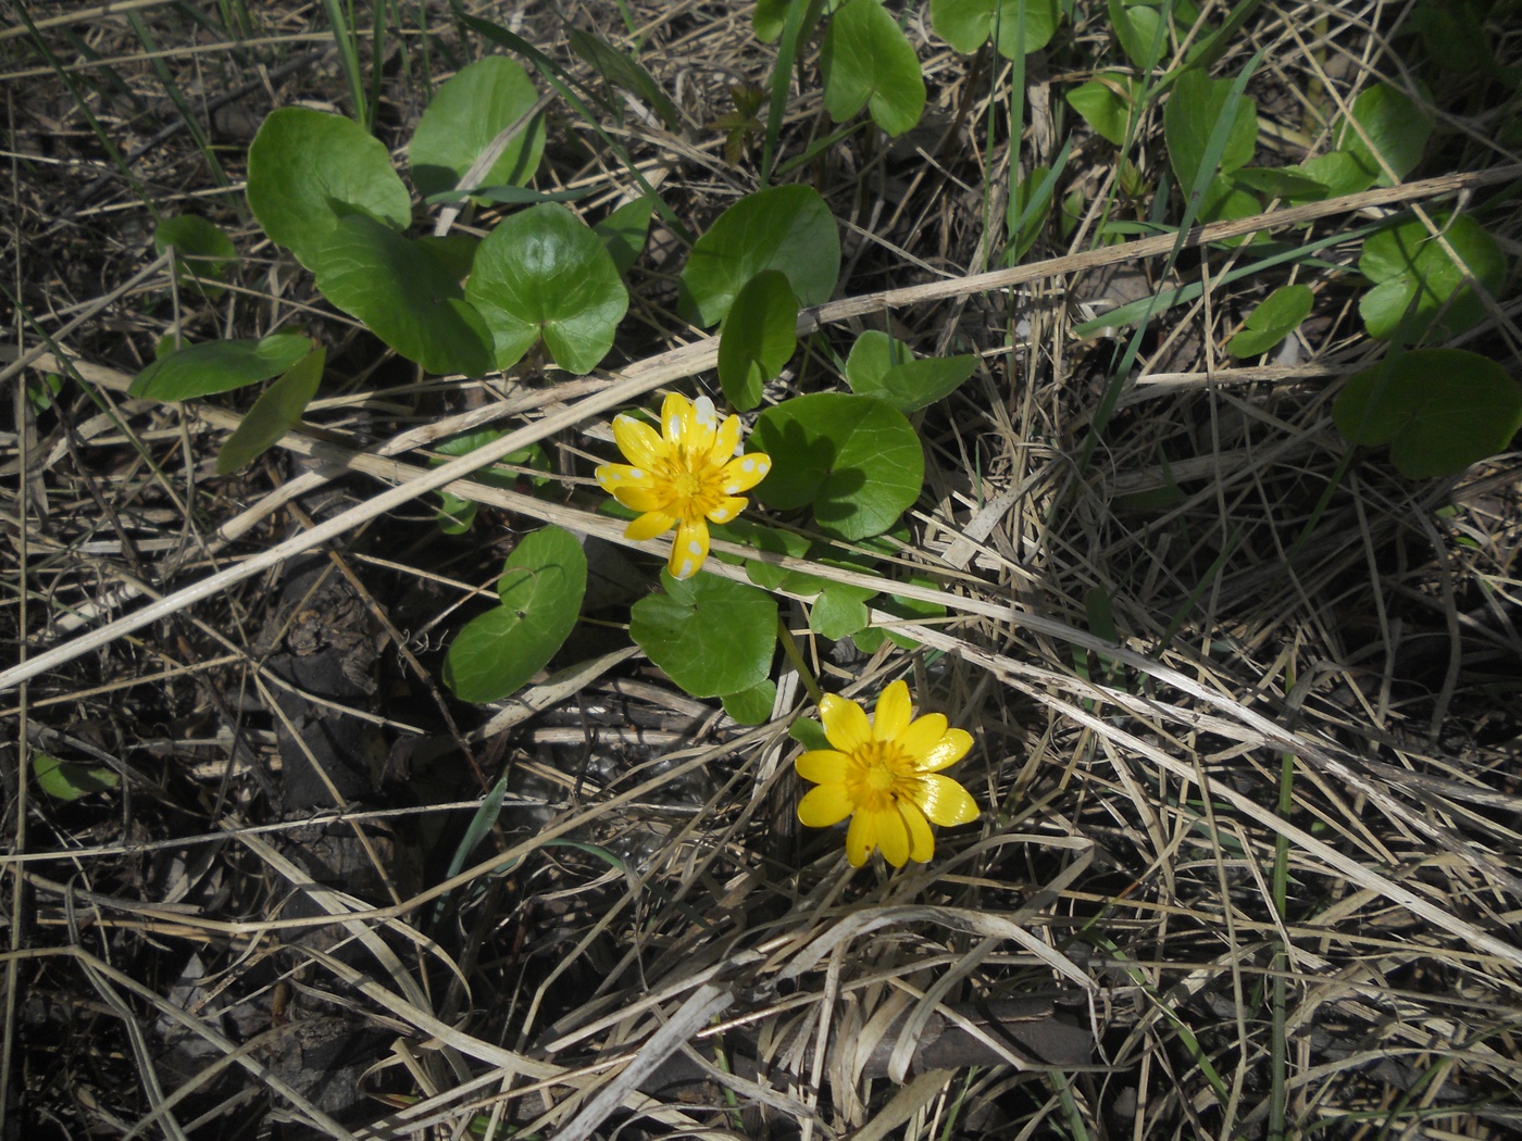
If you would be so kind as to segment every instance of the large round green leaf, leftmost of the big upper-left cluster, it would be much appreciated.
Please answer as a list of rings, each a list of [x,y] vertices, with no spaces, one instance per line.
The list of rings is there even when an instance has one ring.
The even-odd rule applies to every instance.
[[[379,138],[342,116],[283,106],[248,148],[248,207],[271,240],[315,269],[341,218],[364,215],[391,230],[412,219],[412,199]]]

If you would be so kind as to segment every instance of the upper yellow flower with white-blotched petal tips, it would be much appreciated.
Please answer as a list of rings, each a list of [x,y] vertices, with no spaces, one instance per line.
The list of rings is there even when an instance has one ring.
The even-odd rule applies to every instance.
[[[613,417],[613,440],[627,464],[603,464],[597,482],[639,519],[624,537],[654,539],[676,528],[668,567],[691,578],[708,558],[708,525],[728,523],[746,508],[749,491],[772,470],[763,452],[737,455],[740,417],[718,423],[714,402],[689,403],[671,393],[661,406],[661,435],[632,415]]]

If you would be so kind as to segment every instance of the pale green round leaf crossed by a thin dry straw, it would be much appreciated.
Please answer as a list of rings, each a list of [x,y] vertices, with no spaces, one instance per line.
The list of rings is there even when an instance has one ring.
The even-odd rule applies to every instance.
[[[489,55],[457,72],[417,122],[406,161],[420,195],[454,190],[498,134],[528,114],[539,91],[513,59]],[[534,116],[508,141],[476,186],[524,186],[545,151],[545,117]]]

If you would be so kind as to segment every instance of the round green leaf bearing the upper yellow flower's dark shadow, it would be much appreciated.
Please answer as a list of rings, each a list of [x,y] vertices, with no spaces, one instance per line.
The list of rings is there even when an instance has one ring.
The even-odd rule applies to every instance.
[[[840,539],[881,534],[919,497],[919,435],[886,400],[801,396],[763,412],[750,438],[772,456],[756,497],[782,511],[811,505]]]

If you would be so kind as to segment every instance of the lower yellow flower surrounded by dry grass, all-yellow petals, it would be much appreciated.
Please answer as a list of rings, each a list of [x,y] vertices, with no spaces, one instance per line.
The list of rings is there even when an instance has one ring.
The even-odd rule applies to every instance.
[[[883,691],[871,720],[855,701],[826,694],[819,720],[834,748],[798,758],[798,774],[819,785],[798,802],[798,818],[810,828],[829,828],[851,817],[846,858],[854,867],[861,867],[874,847],[881,847],[893,867],[906,860],[924,863],[936,850],[931,823],[977,820],[971,794],[941,776],[966,756],[971,735],[947,729],[941,714],[912,717],[903,682]]]

